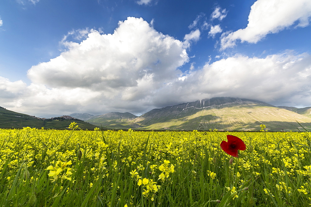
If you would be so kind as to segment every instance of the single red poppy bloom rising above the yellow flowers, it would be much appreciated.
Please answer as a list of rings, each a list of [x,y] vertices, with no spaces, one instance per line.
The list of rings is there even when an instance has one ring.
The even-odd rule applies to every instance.
[[[228,142],[222,141],[220,147],[225,153],[238,157],[238,150],[245,150],[246,145],[242,139],[233,135],[227,135]]]

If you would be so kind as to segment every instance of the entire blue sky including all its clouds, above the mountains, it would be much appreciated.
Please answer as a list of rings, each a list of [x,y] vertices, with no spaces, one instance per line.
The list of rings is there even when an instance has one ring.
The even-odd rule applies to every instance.
[[[217,96],[311,106],[309,0],[4,0],[0,106],[131,112]]]

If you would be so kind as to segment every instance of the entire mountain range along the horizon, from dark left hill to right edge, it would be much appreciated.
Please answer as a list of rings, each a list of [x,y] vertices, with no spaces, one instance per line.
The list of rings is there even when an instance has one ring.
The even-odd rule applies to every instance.
[[[73,118],[74,117],[74,118]],[[89,123],[79,119],[87,120]],[[103,115],[74,113],[51,119],[38,118],[0,107],[0,128],[35,127],[66,129],[75,121],[81,129],[96,126],[108,129],[160,130],[260,130],[264,124],[272,131],[311,129],[311,107],[273,106],[251,99],[217,97],[174,106],[155,108],[135,116],[131,113],[110,112]]]

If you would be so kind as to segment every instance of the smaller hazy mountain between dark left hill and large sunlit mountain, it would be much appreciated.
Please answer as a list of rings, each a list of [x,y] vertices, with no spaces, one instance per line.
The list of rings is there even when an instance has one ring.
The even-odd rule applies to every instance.
[[[134,114],[129,112],[110,112],[103,115],[93,116],[87,121],[96,126],[103,126],[110,129],[129,129],[141,127],[131,121],[137,118]]]

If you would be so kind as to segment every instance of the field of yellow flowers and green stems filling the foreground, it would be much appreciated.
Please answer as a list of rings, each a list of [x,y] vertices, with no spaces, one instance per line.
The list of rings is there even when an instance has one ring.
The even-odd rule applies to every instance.
[[[1,206],[309,206],[310,132],[0,129]],[[220,143],[246,145],[238,157]]]

